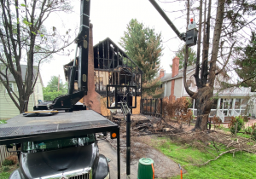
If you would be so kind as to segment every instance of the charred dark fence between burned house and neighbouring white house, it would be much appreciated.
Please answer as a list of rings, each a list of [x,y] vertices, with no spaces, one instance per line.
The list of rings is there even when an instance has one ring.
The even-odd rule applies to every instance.
[[[162,117],[163,99],[141,99],[141,113],[155,117]]]

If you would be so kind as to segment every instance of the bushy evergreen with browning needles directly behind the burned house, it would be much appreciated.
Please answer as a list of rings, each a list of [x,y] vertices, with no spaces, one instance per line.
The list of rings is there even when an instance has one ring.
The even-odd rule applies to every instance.
[[[163,50],[161,33],[132,19],[119,44],[143,70],[143,96],[155,95],[152,91],[159,91],[157,89],[160,86],[160,79],[156,78],[156,75],[160,69],[160,56]]]

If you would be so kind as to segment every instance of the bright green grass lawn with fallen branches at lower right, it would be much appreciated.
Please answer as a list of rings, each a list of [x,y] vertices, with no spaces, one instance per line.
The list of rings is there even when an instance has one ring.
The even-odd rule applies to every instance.
[[[217,157],[214,157],[211,153],[218,155],[211,145],[209,146],[211,153],[207,153],[190,146],[178,145],[167,138],[153,139],[153,141],[158,142],[159,145],[156,148],[161,153],[164,153],[180,165],[201,164]],[[226,153],[208,165],[190,165],[185,166],[184,169],[187,170],[187,173],[183,174],[183,178],[256,178],[256,155],[236,153],[235,158],[233,158],[232,153]],[[173,178],[180,178],[180,176]]]

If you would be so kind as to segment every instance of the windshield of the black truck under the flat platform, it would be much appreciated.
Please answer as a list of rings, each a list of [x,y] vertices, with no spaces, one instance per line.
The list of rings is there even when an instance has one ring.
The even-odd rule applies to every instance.
[[[94,134],[75,138],[65,138],[50,141],[26,141],[22,143],[23,153],[37,153],[67,147],[86,146],[96,141]]]

